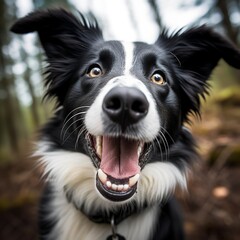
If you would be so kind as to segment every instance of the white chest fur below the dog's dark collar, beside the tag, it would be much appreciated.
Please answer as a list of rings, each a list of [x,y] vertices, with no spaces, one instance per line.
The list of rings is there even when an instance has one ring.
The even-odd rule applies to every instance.
[[[105,240],[111,235],[111,225],[94,223],[81,211],[69,204],[65,196],[58,192],[51,203],[54,218],[59,219],[50,236],[58,240]],[[158,215],[158,206],[148,208],[140,214],[125,219],[117,226],[117,232],[126,239],[146,240],[151,236]]]

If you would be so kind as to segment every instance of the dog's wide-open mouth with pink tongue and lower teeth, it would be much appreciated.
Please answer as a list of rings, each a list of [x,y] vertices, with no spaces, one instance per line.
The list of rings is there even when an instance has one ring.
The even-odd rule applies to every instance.
[[[93,163],[97,167],[96,187],[111,201],[125,201],[137,190],[141,168],[149,148],[143,141],[125,137],[88,135]]]

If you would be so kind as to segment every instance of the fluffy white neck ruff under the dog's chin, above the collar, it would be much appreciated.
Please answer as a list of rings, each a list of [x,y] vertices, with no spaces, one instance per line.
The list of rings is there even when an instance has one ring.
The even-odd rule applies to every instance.
[[[64,150],[48,152],[47,145],[47,142],[41,143],[36,154],[42,156],[40,161],[45,166],[45,174],[59,186],[59,191],[67,186],[73,191],[75,202],[80,205],[84,201],[87,210],[111,210],[116,204],[125,204],[100,196],[95,187],[97,170],[87,155]],[[141,171],[137,194],[129,201],[152,204],[172,193],[177,185],[186,188],[185,172],[169,162],[148,163]]]

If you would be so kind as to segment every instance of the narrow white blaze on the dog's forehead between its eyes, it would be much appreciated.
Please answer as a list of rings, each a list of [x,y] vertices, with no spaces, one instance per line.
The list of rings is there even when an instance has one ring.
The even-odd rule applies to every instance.
[[[131,42],[121,42],[125,54],[124,75],[129,75],[134,61],[134,44]]]

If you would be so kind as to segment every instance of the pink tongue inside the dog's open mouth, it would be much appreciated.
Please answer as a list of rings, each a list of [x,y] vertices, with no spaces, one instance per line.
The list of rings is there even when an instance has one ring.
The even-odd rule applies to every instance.
[[[126,138],[103,137],[100,168],[116,179],[129,178],[140,172],[138,142]]]

